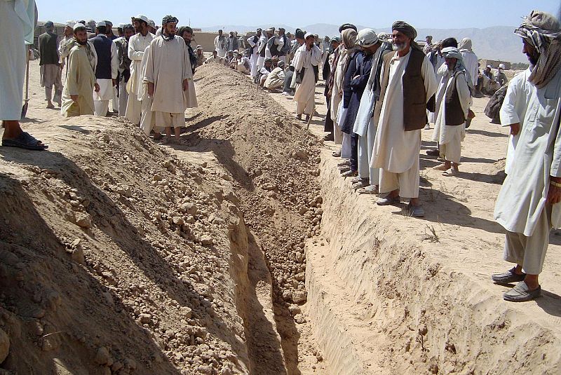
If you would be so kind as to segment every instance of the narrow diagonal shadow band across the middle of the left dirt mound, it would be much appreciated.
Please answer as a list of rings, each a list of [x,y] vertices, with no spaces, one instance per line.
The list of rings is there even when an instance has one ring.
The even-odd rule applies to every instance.
[[[142,238],[136,227],[128,221],[121,208],[104,191],[93,184],[86,172],[74,161],[58,152],[43,151],[41,158],[33,158],[33,155],[35,154],[29,154],[28,151],[20,149],[0,149],[0,156],[5,161],[34,165],[41,169],[58,172],[60,178],[68,186],[77,190],[76,194],[78,196],[90,200],[90,205],[86,211],[90,214],[92,227],[97,226],[100,231],[111,238],[124,253],[128,254],[133,264],[154,284],[158,285],[170,299],[177,301],[181,306],[191,308],[193,317],[198,318],[201,325],[204,325],[210,334],[217,336],[222,341],[231,343],[234,350],[243,346],[243,343],[236,339],[234,334],[227,336],[222,332],[220,327],[227,327],[227,325],[219,320],[219,315],[212,308],[212,305],[204,306],[201,303],[204,296],[194,289],[191,282],[184,282],[177,278],[177,273],[171,264],[163,259],[151,243]],[[128,203],[126,200],[121,200],[121,203],[128,205],[130,210],[137,210],[135,205]],[[86,235],[95,239],[95,234],[89,229],[86,231]],[[95,273],[91,266],[88,266],[88,268],[92,273]],[[196,304],[191,301],[196,301]],[[132,311],[132,307],[130,309]]]

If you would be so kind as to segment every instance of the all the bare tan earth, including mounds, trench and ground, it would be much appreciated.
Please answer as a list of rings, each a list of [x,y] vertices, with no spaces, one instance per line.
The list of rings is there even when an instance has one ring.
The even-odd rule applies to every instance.
[[[50,148],[0,148],[0,374],[561,371],[555,233],[542,299],[487,282],[505,131],[484,102],[461,177],[422,158],[414,219],[353,193],[320,121],[236,71],[197,69],[199,107],[165,146],[43,109],[31,71],[24,127]]]

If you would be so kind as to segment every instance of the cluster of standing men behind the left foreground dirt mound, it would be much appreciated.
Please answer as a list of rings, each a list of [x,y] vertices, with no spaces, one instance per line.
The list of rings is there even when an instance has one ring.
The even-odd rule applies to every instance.
[[[39,65],[47,108],[54,101],[63,116],[107,116],[111,104],[155,139],[178,142],[185,109],[197,106],[193,74],[205,58],[201,46],[196,52],[191,47],[191,27],[178,28],[177,22],[165,16],[156,29],[154,21],[137,15],[115,35],[109,20],[67,21],[62,39],[46,22]]]

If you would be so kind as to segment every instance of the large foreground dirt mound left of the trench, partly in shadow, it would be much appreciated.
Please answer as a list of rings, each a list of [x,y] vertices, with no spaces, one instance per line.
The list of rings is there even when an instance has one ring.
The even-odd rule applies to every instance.
[[[125,123],[74,121],[43,130],[51,152],[1,150],[3,368],[247,372],[235,197]]]

